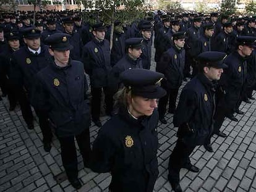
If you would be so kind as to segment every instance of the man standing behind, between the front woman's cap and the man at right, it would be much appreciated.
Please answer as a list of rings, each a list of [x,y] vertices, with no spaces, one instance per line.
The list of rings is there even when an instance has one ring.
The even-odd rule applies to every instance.
[[[176,99],[183,80],[183,70],[185,65],[185,32],[177,32],[173,34],[173,46],[164,52],[159,62],[159,72],[164,74],[164,80],[161,86],[166,90],[167,94],[159,100],[158,112],[161,123],[166,124],[164,119],[166,105],[169,100],[169,113],[174,114],[176,110]]]

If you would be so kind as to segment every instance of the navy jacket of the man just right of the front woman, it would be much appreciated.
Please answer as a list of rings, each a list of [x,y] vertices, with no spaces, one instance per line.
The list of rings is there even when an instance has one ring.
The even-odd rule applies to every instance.
[[[177,136],[188,146],[202,145],[213,131],[215,112],[215,86],[203,74],[198,74],[184,87],[174,114],[174,127],[179,127]],[[184,124],[194,131],[184,133]]]

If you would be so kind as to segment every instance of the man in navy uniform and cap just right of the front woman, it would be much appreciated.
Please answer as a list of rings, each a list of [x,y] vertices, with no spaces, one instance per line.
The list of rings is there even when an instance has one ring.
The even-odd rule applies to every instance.
[[[215,86],[223,73],[223,52],[203,52],[198,56],[199,74],[183,88],[177,111],[174,114],[174,127],[177,130],[177,143],[169,158],[168,180],[174,191],[182,191],[179,185],[181,168],[198,172],[192,165],[189,155],[195,146],[205,144],[213,130],[215,112]],[[203,114],[203,115],[202,115]]]

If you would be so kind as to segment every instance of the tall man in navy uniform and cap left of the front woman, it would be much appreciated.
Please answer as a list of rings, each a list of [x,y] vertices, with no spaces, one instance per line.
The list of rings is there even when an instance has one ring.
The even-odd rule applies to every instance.
[[[67,178],[75,189],[81,188],[77,170],[77,140],[85,167],[90,164],[90,110],[83,64],[69,57],[69,35],[54,33],[46,38],[53,59],[36,78],[36,106],[49,114],[61,144],[61,159]]]

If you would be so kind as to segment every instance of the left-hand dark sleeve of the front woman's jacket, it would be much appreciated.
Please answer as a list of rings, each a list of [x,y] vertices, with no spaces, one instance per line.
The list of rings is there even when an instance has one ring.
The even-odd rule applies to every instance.
[[[93,172],[106,173],[111,171],[111,167],[114,164],[115,149],[116,146],[103,125],[93,143],[91,165]]]

